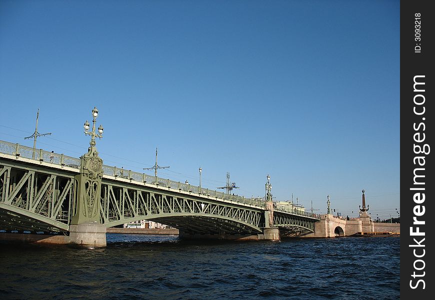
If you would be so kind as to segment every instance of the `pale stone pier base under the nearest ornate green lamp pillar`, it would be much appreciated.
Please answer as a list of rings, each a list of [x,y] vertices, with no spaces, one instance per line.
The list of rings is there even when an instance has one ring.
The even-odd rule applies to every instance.
[[[69,226],[69,243],[88,249],[105,247],[106,227],[103,224],[84,222]]]

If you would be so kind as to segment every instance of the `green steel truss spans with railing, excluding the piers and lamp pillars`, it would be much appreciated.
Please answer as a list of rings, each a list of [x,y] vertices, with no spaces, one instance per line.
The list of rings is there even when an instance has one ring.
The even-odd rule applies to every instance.
[[[153,220],[190,234],[261,234],[265,201],[103,165],[100,223]],[[0,140],[0,230],[68,234],[80,159]],[[284,235],[314,231],[318,216],[275,208]]]

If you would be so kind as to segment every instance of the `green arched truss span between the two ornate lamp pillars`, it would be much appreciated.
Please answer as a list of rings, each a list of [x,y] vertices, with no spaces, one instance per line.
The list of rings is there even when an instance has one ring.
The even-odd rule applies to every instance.
[[[164,224],[188,230],[195,228],[196,232],[218,230],[216,222],[221,222],[225,230],[260,232],[263,216],[260,209],[146,187],[126,187],[105,180],[101,186],[100,213],[107,227],[141,219],[159,222],[164,219]]]

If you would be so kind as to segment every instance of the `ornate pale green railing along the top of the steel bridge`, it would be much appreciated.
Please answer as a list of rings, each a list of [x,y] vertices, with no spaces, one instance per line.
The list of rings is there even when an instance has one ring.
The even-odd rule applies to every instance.
[[[67,165],[69,167],[80,169],[80,163],[81,163],[80,158],[53,153],[42,149],[33,150],[32,147],[23,146],[18,143],[11,143],[11,142],[0,140],[0,152],[19,156],[19,157],[35,159],[38,161],[45,161],[57,165]],[[103,164],[102,170],[104,172],[104,175],[126,178],[135,182],[158,184],[158,186],[160,187],[167,187],[167,188],[173,188],[175,190],[178,189],[178,190],[192,192],[196,194],[203,194],[210,197],[215,197],[219,199],[224,199],[224,200],[239,202],[244,204],[250,204],[257,207],[265,207],[265,202],[264,199],[262,198],[245,198],[244,196],[228,194],[217,190],[209,190],[207,188],[190,185],[188,183],[187,184],[181,183],[178,181],[151,176],[144,173],[134,172],[132,170],[125,170],[123,168],[118,168],[116,166],[110,166],[105,164]],[[309,212],[305,212],[305,211],[302,212],[297,210],[290,211],[287,210],[286,207],[276,207],[274,210],[289,212],[292,214],[316,217],[314,214],[311,214]]]

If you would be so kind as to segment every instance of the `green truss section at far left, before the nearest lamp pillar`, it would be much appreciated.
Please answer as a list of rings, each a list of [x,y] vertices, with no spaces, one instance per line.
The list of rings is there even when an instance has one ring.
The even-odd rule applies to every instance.
[[[64,231],[74,200],[72,175],[0,161],[0,229]]]

